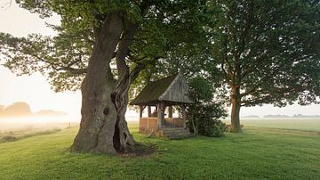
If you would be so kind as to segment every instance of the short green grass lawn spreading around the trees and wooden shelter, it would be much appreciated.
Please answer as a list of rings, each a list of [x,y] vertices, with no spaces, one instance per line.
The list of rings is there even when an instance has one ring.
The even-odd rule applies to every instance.
[[[139,135],[132,125],[137,141],[156,144],[146,157],[71,153],[76,127],[0,143],[0,179],[320,178],[320,120],[308,129],[243,122],[242,134],[172,141]]]

